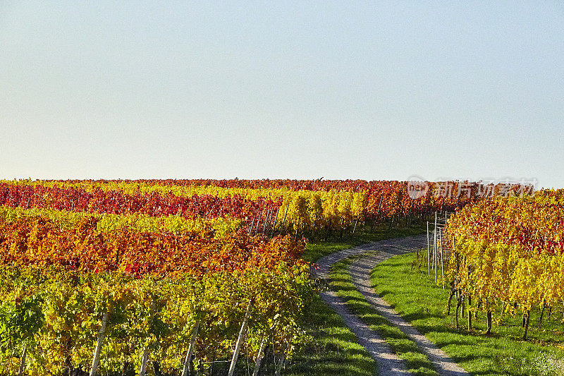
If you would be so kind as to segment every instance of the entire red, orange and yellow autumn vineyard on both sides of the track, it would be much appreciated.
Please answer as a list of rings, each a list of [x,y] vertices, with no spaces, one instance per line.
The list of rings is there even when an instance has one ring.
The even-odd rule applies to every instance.
[[[460,213],[462,295],[486,310],[564,300],[546,289],[564,286],[560,193],[427,184],[412,198],[399,181],[0,181],[0,374],[233,375],[245,358],[257,375],[269,348],[279,375],[312,340],[305,238],[437,210]]]

